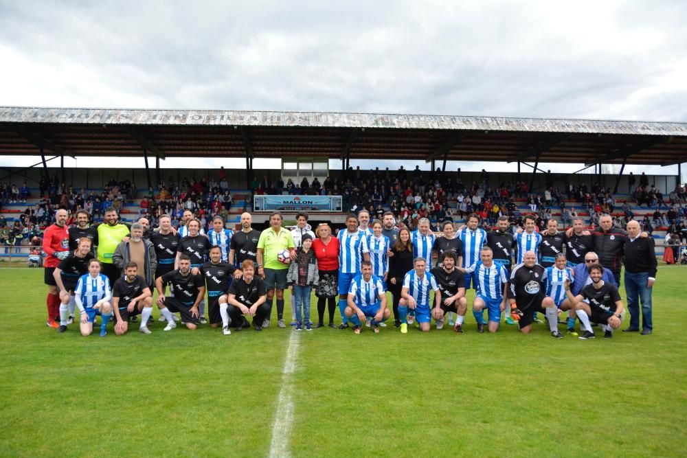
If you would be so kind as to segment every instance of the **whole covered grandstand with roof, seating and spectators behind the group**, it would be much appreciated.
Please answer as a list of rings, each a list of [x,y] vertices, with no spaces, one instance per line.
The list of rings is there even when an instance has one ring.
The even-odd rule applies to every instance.
[[[311,222],[342,227],[349,211],[368,209],[371,216],[392,211],[411,228],[427,217],[437,232],[440,222],[460,225],[473,212],[485,227],[506,215],[513,228],[528,214],[541,228],[550,218],[567,228],[576,217],[594,227],[608,213],[618,227],[640,221],[657,239],[659,255],[664,244],[681,253],[687,238],[687,186],[679,179],[679,164],[687,161],[685,123],[0,107],[0,152],[41,157],[30,168],[3,167],[5,260],[35,256],[58,207],[71,219],[85,209],[95,221],[115,207],[124,222],[146,216],[153,226],[161,214],[176,225],[192,209],[206,228],[220,214],[232,229],[244,211],[258,228],[272,209],[287,220],[305,209]],[[113,170],[65,168],[65,156],[125,162]],[[245,168],[161,168],[169,157],[199,165],[206,157],[240,157]],[[254,169],[256,157],[281,159],[282,167]],[[330,169],[331,159],[341,167]],[[361,170],[351,159],[420,160],[427,167]],[[48,168],[57,161],[61,167]],[[145,168],[134,168],[136,161]],[[513,163],[517,171],[447,169],[473,161]],[[553,174],[540,163],[585,167]],[[602,164],[620,165],[620,172],[602,174]],[[678,174],[623,174],[625,165],[678,165]],[[592,168],[594,174],[580,173]]]

